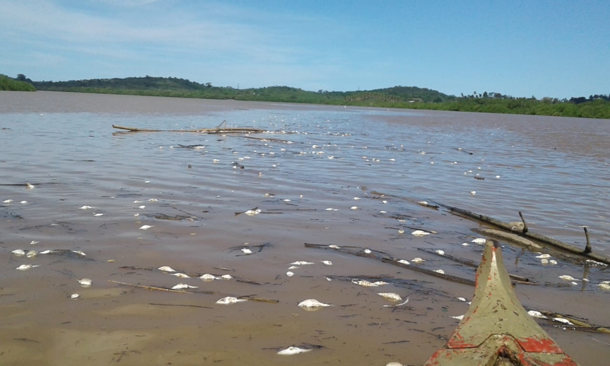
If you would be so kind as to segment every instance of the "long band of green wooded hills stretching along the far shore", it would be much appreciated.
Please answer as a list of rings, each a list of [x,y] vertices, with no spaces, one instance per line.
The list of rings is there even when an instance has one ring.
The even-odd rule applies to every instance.
[[[401,86],[357,91],[307,91],[285,86],[239,89],[215,87],[209,82],[199,84],[177,77],[145,76],[59,82],[32,81],[23,74],[19,74],[16,79],[5,78],[8,82],[20,83],[18,85],[28,84],[35,88],[34,90],[610,119],[610,95],[591,95],[589,98],[560,100],[557,98],[515,98],[487,91],[483,94],[475,92],[472,95],[454,96],[428,88]],[[2,89],[0,87],[0,90],[24,89]]]

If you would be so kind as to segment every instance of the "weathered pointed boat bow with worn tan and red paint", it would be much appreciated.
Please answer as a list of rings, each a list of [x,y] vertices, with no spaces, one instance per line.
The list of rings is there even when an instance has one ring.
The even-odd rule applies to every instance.
[[[579,366],[517,299],[500,245],[487,240],[468,312],[425,366]]]

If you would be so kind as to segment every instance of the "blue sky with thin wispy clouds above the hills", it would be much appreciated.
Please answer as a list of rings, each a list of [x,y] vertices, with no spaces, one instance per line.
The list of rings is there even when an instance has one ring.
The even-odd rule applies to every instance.
[[[610,1],[0,0],[0,73],[610,93]]]

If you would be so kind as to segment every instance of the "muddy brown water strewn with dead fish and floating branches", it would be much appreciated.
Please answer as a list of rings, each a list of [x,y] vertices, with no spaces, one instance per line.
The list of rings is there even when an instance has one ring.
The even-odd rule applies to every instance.
[[[223,120],[274,132],[112,129],[193,129]],[[478,236],[472,232],[478,224],[418,206],[422,200],[504,221],[518,221],[522,210],[532,231],[578,246],[584,246],[580,226],[587,225],[594,250],[610,251],[607,120],[2,91],[0,141],[2,365],[422,365],[458,325],[451,317],[467,310],[456,298],[470,300],[473,288],[304,247],[423,257],[422,267],[472,279],[473,268],[418,248],[478,261],[481,246],[462,246]],[[85,205],[93,208],[79,208]],[[257,215],[243,213],[255,208]],[[152,228],[139,229],[145,224]],[[436,234],[415,237],[414,229]],[[268,245],[244,256],[245,243]],[[543,266],[536,253],[503,245],[508,270],[540,284],[517,285],[526,307],[610,325],[610,293],[597,287],[610,280],[607,269],[561,257]],[[14,249],[87,256],[28,259]],[[315,264],[289,277],[296,260]],[[15,270],[23,264],[39,267]],[[162,265],[235,279],[204,282],[121,268]],[[562,274],[579,281],[562,281]],[[336,276],[409,282],[371,289]],[[81,287],[81,278],[93,285]],[[109,280],[185,282],[214,293]],[[390,303],[378,292],[410,301],[384,307]],[[71,300],[73,293],[81,297]],[[228,295],[279,302],[215,304]],[[316,312],[296,306],[307,298],[334,306]],[[608,335],[540,324],[581,365],[608,365]],[[307,344],[322,347],[276,354]]]

